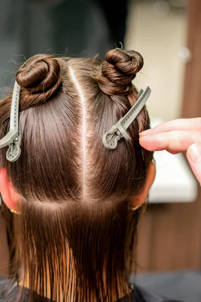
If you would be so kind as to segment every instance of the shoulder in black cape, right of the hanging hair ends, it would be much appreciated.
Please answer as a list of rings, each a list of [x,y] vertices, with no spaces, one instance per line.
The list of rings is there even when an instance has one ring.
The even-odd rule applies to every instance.
[[[135,302],[182,302],[178,300],[165,298],[141,286],[134,287],[131,294],[131,301],[132,302],[133,301]]]

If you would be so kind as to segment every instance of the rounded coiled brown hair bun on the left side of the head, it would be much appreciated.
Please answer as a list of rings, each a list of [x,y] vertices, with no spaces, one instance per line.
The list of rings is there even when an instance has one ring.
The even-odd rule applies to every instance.
[[[61,84],[60,64],[53,55],[34,55],[16,73],[16,81],[26,90],[27,94],[37,94],[38,103],[40,103],[41,100],[50,98],[59,88]]]

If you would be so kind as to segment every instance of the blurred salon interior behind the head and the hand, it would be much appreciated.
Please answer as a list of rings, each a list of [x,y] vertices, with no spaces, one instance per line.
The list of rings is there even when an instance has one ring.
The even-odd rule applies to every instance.
[[[0,0],[0,95],[13,86],[18,64],[36,53],[104,59],[114,47],[137,50],[150,86],[152,126],[201,116],[200,0]],[[200,270],[200,190],[185,157],[156,154],[157,177],[139,223],[138,272]],[[0,219],[0,273],[9,261]],[[133,266],[133,272],[135,266]],[[201,283],[200,283],[201,284]],[[191,300],[192,301],[192,300]]]

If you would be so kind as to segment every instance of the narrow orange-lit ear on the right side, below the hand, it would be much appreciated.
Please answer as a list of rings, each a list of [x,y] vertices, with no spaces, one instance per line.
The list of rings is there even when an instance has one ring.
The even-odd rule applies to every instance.
[[[154,182],[155,175],[156,175],[156,166],[154,162],[151,162],[147,172],[146,184],[139,195],[133,196],[132,206],[134,207],[141,206],[146,201],[149,190]]]

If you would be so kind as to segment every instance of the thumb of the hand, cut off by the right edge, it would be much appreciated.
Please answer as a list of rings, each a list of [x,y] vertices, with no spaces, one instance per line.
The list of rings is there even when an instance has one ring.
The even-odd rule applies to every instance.
[[[201,143],[190,145],[187,149],[186,156],[194,176],[198,182],[201,183]]]

